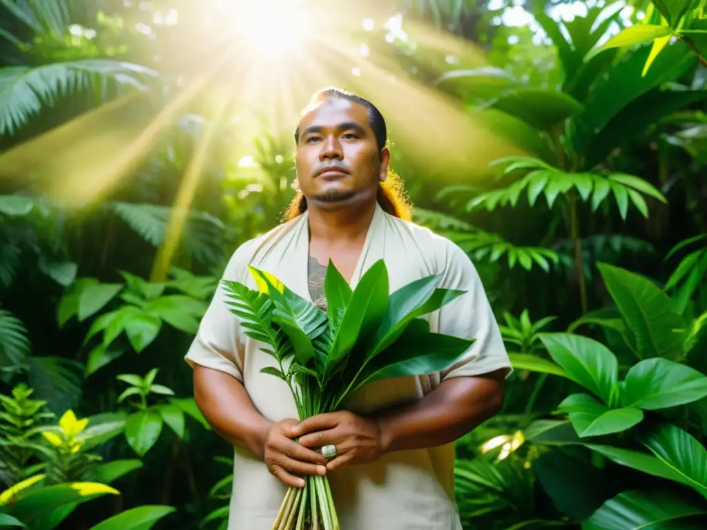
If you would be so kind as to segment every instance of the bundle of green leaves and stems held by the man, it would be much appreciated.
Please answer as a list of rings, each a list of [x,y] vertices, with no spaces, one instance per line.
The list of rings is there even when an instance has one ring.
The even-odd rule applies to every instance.
[[[426,276],[390,293],[385,263],[375,262],[354,290],[329,261],[327,310],[289,290],[270,273],[249,267],[257,290],[223,280],[227,304],[275,365],[261,371],[291,389],[300,420],[341,410],[364,384],[427,375],[454,364],[473,340],[433,333],[423,317],[464,291],[439,288]],[[324,476],[290,488],[273,529],[340,528]]]

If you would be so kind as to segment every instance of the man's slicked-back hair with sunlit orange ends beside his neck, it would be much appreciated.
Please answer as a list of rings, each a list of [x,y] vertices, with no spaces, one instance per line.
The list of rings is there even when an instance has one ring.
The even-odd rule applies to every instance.
[[[317,92],[312,96],[309,104],[300,113],[300,120],[312,109],[312,107],[315,107],[320,102],[325,101],[328,98],[342,98],[353,101],[360,103],[368,109],[368,124],[370,125],[370,128],[373,129],[375,141],[378,144],[378,152],[380,153],[380,151],[382,151],[387,144],[387,126],[385,124],[385,118],[380,113],[380,110],[373,105],[373,103],[361,98],[358,95],[346,92],[346,90],[342,90],[341,88],[322,88],[322,90],[317,90]],[[298,121],[295,129],[295,143],[299,143],[299,139],[300,124]],[[391,216],[404,220],[411,220],[412,218],[412,206],[409,203],[402,179],[391,170],[388,170],[385,181],[381,182],[378,187],[378,204],[380,204],[381,208],[383,208],[383,211],[390,213]],[[298,192],[285,211],[283,220],[292,220],[302,213],[305,213],[306,210],[307,199],[302,192]]]

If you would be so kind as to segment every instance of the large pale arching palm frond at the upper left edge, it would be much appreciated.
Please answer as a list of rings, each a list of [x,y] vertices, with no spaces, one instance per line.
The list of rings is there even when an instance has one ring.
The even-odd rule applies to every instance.
[[[145,66],[110,59],[82,59],[43,66],[0,69],[0,134],[13,134],[30,116],[52,106],[71,90],[95,81],[114,81],[140,90],[141,78],[154,76]]]

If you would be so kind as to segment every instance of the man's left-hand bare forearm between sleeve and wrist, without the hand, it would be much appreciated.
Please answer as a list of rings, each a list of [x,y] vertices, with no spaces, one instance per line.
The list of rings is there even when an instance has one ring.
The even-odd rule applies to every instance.
[[[206,421],[231,444],[263,458],[272,422],[253,406],[243,384],[232,376],[194,366],[194,400]]]

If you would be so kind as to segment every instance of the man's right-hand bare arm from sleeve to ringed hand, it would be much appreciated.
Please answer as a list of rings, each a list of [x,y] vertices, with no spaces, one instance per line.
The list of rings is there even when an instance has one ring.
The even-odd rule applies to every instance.
[[[503,407],[506,370],[451,377],[413,404],[368,418],[348,411],[320,414],[294,430],[304,447],[334,444],[337,457],[327,469],[366,464],[387,452],[447,444],[462,437]]]

